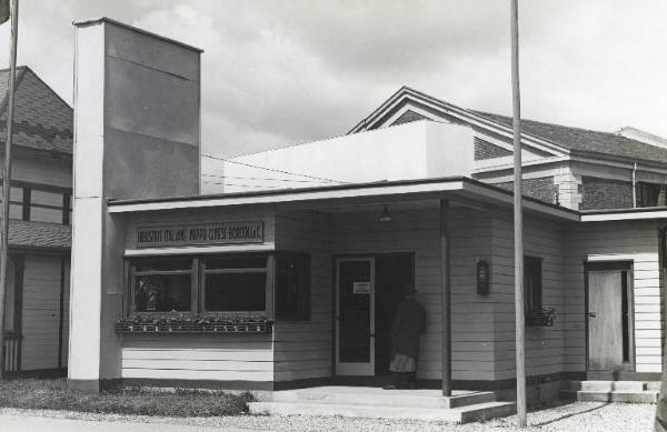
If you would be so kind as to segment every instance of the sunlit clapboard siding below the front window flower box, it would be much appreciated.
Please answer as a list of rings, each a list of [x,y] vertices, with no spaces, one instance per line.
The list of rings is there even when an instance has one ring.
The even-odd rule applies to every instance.
[[[121,376],[166,380],[272,381],[268,334],[132,334],[123,338]]]

